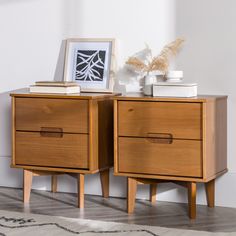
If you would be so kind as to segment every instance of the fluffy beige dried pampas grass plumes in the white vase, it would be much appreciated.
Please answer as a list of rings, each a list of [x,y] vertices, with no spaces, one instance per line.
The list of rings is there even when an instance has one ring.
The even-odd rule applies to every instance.
[[[126,62],[127,65],[133,67],[139,72],[161,71],[166,73],[169,68],[170,58],[176,56],[179,49],[182,47],[184,39],[178,38],[175,41],[167,44],[161,51],[161,53],[152,58],[147,64],[137,57],[130,57]]]

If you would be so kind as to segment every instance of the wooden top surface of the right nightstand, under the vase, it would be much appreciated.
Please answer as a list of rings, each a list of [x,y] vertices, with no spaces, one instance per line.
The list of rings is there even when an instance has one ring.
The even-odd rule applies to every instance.
[[[196,97],[153,97],[146,96],[142,93],[128,93],[122,96],[116,96],[115,100],[126,101],[170,101],[170,102],[207,102],[215,101],[218,99],[227,99],[225,95],[198,95]]]

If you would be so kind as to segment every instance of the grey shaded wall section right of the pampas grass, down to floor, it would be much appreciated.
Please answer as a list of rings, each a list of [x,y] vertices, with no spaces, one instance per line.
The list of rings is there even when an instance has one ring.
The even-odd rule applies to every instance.
[[[176,0],[176,34],[187,43],[178,66],[185,78],[199,84],[201,94],[227,94],[228,168],[217,180],[218,205],[236,207],[236,1]]]

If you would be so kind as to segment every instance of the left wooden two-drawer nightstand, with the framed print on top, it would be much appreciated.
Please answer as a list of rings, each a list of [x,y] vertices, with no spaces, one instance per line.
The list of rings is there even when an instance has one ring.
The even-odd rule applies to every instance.
[[[115,94],[32,94],[12,96],[12,167],[24,169],[24,202],[33,176],[58,174],[78,180],[78,206],[84,207],[84,175],[100,172],[102,193],[109,196],[113,166],[113,97]]]

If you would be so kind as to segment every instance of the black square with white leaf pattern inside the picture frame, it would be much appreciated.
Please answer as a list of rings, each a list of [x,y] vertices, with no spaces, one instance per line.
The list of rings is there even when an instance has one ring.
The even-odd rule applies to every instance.
[[[106,51],[77,50],[75,80],[103,81]]]

